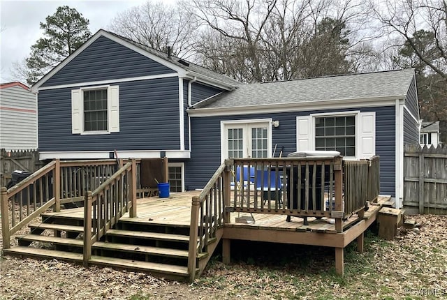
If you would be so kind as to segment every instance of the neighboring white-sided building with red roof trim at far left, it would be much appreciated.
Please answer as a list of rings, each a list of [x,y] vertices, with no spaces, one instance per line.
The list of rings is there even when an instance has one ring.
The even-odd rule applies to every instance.
[[[37,149],[37,97],[20,82],[0,84],[0,149]]]

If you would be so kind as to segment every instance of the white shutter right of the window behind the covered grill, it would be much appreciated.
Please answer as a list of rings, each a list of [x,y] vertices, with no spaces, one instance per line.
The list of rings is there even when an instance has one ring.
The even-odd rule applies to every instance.
[[[358,137],[358,158],[376,155],[376,112],[360,112]]]

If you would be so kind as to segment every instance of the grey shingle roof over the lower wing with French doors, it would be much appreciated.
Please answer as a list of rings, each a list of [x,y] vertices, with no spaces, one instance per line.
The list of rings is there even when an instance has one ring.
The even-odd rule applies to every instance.
[[[406,95],[414,69],[242,84],[195,108],[244,107]]]

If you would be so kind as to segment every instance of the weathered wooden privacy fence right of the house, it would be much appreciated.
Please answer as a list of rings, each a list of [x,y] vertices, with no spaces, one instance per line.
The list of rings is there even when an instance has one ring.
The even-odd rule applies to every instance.
[[[404,208],[447,213],[447,148],[404,147]]]

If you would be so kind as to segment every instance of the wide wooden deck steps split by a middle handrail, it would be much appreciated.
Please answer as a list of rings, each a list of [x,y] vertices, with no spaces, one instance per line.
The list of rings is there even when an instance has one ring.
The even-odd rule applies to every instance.
[[[41,216],[42,223],[29,225],[30,233],[17,237],[18,246],[4,249],[4,253],[82,263],[83,218],[57,213]],[[141,223],[133,218],[122,218],[101,241],[93,244],[89,264],[187,281],[188,247],[189,226]],[[198,255],[196,265],[206,264],[207,257],[208,253]]]

